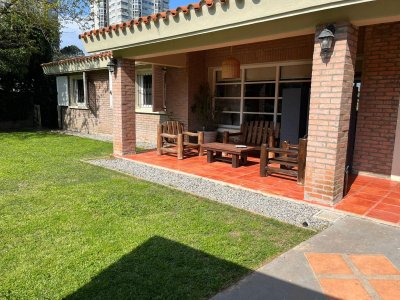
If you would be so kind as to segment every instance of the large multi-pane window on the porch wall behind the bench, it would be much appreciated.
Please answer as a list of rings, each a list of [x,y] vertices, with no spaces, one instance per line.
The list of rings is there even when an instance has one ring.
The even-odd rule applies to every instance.
[[[222,114],[219,127],[239,128],[248,121],[279,123],[282,90],[310,85],[311,63],[242,66],[241,78],[224,81],[221,71],[214,72],[215,108]]]

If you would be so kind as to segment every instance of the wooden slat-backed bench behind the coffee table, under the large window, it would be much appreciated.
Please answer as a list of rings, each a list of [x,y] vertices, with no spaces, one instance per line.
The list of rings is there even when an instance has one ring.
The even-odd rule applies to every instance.
[[[262,144],[268,144],[268,147],[275,147],[279,138],[279,123],[274,126],[274,122],[269,121],[251,121],[243,123],[240,126],[240,132],[224,132],[223,143],[229,144],[230,138],[239,136],[239,143],[255,147],[261,150]]]

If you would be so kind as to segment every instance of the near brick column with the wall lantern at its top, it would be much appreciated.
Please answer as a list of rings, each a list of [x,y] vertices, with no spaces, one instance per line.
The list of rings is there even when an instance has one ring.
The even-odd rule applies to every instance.
[[[336,24],[328,58],[315,34],[304,197],[333,204],[342,199],[358,30]]]

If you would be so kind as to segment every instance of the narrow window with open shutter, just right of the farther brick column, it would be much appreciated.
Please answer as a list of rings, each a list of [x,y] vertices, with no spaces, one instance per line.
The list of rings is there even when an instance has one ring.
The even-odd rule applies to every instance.
[[[137,107],[152,109],[153,107],[153,76],[151,70],[136,72]]]

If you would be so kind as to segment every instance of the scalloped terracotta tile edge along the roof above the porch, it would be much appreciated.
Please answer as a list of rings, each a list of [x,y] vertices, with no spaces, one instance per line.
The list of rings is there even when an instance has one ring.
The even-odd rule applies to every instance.
[[[140,17],[138,19],[132,19],[131,21],[110,25],[108,27],[93,29],[93,30],[90,30],[90,31],[80,34],[79,38],[86,39],[88,37],[91,37],[92,35],[97,36],[99,34],[106,34],[110,31],[118,31],[120,29],[124,30],[126,28],[132,27],[133,25],[141,26],[142,23],[147,24],[150,21],[153,21],[154,23],[156,23],[160,19],[168,19],[169,16],[175,17],[179,13],[183,13],[183,14],[190,13],[190,9],[199,10],[199,9],[201,9],[203,3],[206,4],[207,8],[210,8],[210,7],[214,6],[215,2],[217,2],[217,1],[221,2],[221,4],[225,4],[225,3],[227,3],[228,0],[200,0],[200,2],[198,2],[198,3],[191,3],[191,4],[188,4],[187,6],[178,6],[176,9],[169,9],[164,12],[152,14],[150,16]]]

